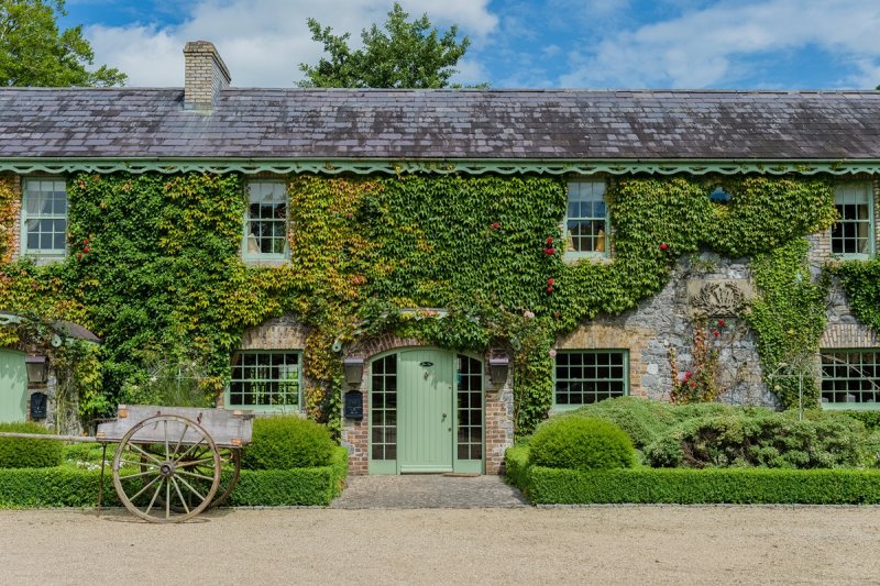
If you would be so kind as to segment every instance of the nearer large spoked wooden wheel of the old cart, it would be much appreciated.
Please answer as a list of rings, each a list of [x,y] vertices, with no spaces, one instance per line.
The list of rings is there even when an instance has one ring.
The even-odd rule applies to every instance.
[[[220,452],[205,429],[180,416],[144,419],[122,438],[113,486],[133,515],[154,523],[185,521],[211,505]]]

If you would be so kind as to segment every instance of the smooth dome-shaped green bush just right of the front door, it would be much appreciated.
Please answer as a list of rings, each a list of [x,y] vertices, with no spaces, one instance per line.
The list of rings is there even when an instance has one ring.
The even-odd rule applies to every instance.
[[[529,449],[531,464],[549,468],[630,468],[636,463],[629,435],[602,419],[551,419],[535,432]]]

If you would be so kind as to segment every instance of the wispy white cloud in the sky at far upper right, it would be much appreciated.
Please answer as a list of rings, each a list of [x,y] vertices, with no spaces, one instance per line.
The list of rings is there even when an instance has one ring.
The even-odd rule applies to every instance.
[[[877,0],[725,1],[613,33],[588,53],[571,53],[573,68],[561,82],[702,88],[740,75],[749,57],[810,46],[857,66],[867,79],[880,64],[878,30]]]

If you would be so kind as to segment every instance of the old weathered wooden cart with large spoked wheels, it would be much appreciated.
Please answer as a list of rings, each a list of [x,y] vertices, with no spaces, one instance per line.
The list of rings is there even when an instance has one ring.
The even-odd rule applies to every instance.
[[[95,436],[0,432],[0,438],[98,442],[103,445],[98,488],[100,515],[107,446],[113,486],[129,511],[154,523],[176,523],[223,502],[241,472],[241,449],[251,443],[246,411],[120,405],[117,418]]]

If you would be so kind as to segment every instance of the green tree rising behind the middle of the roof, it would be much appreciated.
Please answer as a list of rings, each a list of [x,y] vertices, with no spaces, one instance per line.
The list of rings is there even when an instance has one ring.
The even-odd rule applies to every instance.
[[[455,64],[468,51],[471,41],[457,40],[458,26],[440,35],[431,26],[428,14],[409,22],[409,14],[394,3],[384,30],[373,24],[361,32],[363,48],[352,51],[351,33],[334,35],[330,26],[322,27],[308,20],[311,38],[323,43],[330,59],[321,57],[318,65],[300,64],[306,79],[304,88],[444,88],[455,73]]]

